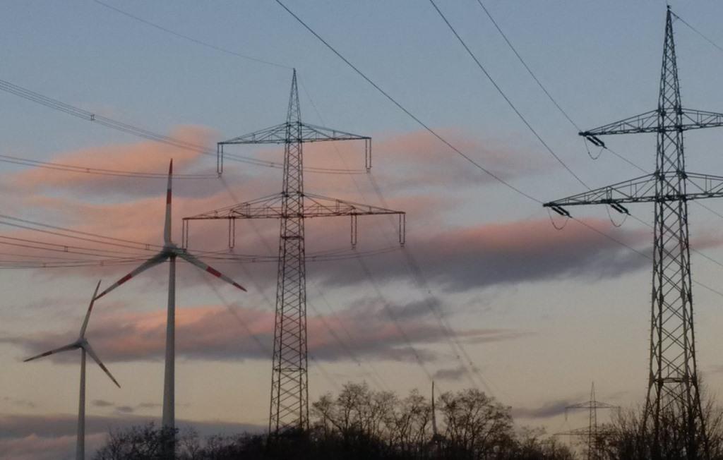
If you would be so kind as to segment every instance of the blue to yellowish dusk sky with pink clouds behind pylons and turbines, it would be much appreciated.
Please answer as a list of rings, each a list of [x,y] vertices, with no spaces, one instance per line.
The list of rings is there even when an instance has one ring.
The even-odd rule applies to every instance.
[[[106,6],[92,0],[5,2],[0,79],[214,150],[216,142],[285,120],[294,67],[304,121],[372,136],[371,173],[309,171],[305,189],[405,211],[406,246],[398,248],[395,221],[388,217],[359,219],[360,257],[349,247],[348,220],[307,222],[307,254],[348,256],[307,264],[312,401],[338,392],[347,381],[367,381],[372,389],[404,395],[429,391],[434,378],[441,391],[479,386],[511,406],[519,425],[542,426],[548,433],[584,425],[585,414],[565,417],[564,408],[588,399],[593,381],[598,399],[609,404],[631,407],[644,401],[648,259],[576,222],[566,223],[472,166],[273,1],[103,1]],[[655,108],[663,1],[483,3],[581,128]],[[716,27],[722,4],[671,5],[723,45]],[[524,194],[550,201],[584,190],[518,118],[432,4],[298,0],[287,6],[419,120]],[[597,149],[586,151],[576,127],[544,95],[477,1],[440,0],[437,6],[544,142],[589,186],[642,174],[610,152],[597,157]],[[683,105],[723,111],[723,93],[716,90],[723,52],[682,22],[674,27]],[[0,92],[0,107],[0,155],[158,174],[174,158],[176,173],[215,172],[213,156],[114,131],[7,91]],[[722,135],[714,129],[686,134],[689,171],[723,175],[717,154]],[[605,141],[643,169],[654,168],[654,136]],[[278,148],[227,151],[283,160]],[[304,154],[309,168],[364,165],[363,145],[353,142],[308,146]],[[103,259],[77,254],[84,252],[79,248],[96,254],[103,248],[105,259],[139,251],[150,255],[137,246],[13,227],[7,224],[18,221],[7,216],[160,244],[165,186],[158,178],[0,162],[0,214],[5,216],[0,217],[0,262]],[[181,240],[181,217],[280,188],[281,170],[231,160],[221,179],[176,180],[174,240]],[[705,204],[723,213],[723,204]],[[630,210],[652,221],[649,205]],[[650,253],[651,230],[640,222],[620,225],[619,214],[601,207],[570,211]],[[720,219],[690,205],[698,369],[712,395],[723,385],[716,342],[723,299],[714,291],[723,266]],[[194,223],[189,251],[228,252],[226,235],[223,223]],[[278,222],[236,225],[234,253],[274,256],[277,247]],[[202,433],[264,430],[276,266],[206,261],[249,292],[179,264],[176,418],[181,427]],[[0,263],[0,452],[8,459],[71,458],[79,356],[22,359],[72,341],[98,279],[108,286],[132,266],[8,265],[17,264]],[[108,428],[160,420],[166,282],[166,269],[157,267],[94,308],[87,337],[121,389],[89,366],[91,451],[103,443]]]

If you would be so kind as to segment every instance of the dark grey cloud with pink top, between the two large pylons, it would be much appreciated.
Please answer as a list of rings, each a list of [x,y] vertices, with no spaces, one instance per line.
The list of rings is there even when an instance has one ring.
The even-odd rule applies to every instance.
[[[647,230],[621,231],[606,221],[585,222],[632,247],[645,247],[650,238]],[[418,267],[428,282],[448,292],[562,277],[617,277],[650,263],[638,253],[581,225],[568,225],[558,231],[547,219],[422,235],[410,238],[405,251],[413,258],[412,270]],[[364,263],[377,279],[386,282],[409,279],[410,269],[399,259],[397,254],[390,253],[365,259]],[[328,272],[322,268],[320,272],[331,286],[352,285],[360,276],[359,269],[353,266]]]

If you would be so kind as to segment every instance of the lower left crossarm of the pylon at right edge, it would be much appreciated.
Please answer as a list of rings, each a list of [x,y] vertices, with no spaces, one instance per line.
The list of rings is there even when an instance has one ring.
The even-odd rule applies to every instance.
[[[581,204],[610,204],[619,205],[623,203],[643,203],[655,201],[655,182],[653,174],[643,175],[629,181],[596,188],[567,198],[549,201],[542,206],[550,208],[561,208],[566,206],[579,206]],[[615,207],[615,206],[614,206]],[[622,208],[622,207],[621,207]],[[625,212],[618,209],[620,212]]]

